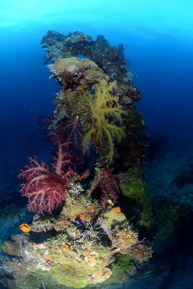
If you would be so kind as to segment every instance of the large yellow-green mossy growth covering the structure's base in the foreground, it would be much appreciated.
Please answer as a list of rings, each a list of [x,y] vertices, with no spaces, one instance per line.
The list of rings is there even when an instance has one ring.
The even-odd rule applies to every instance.
[[[60,239],[53,238],[45,244],[53,260],[53,267],[49,272],[59,284],[83,288],[89,283],[90,275],[97,273],[100,268],[104,268],[114,261],[111,248],[99,242],[76,242],[72,248],[63,251],[62,247],[65,244],[70,247],[72,242],[70,240],[61,241],[62,235]],[[94,259],[95,265],[89,265],[88,259]]]

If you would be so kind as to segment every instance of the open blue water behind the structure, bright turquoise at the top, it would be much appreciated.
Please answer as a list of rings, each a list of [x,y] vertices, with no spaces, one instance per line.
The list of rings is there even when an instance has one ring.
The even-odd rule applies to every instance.
[[[111,45],[124,44],[132,60],[133,85],[142,100],[137,110],[149,129],[166,132],[174,150],[191,153],[193,142],[193,2],[191,0],[44,1],[0,3],[1,141],[0,188],[19,189],[16,175],[28,155],[49,162],[52,146],[42,146],[36,118],[54,110],[58,84],[42,65],[41,39],[48,30],[81,31]],[[175,157],[173,157],[175,158]],[[171,161],[171,160],[169,160]],[[168,161],[168,162],[169,162]],[[8,199],[3,206],[25,204]],[[172,287],[173,288],[173,287]]]

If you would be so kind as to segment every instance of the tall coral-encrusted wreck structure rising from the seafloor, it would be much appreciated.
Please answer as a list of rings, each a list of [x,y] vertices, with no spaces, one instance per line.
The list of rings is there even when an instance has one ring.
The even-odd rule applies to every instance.
[[[38,118],[39,132],[56,150],[50,166],[29,157],[18,175],[27,209],[36,215],[12,237],[19,252],[4,261],[10,272],[3,285],[62,289],[124,282],[152,256],[145,242],[153,225],[144,181],[149,138],[135,109],[140,92],[121,44],[51,30],[41,45],[43,64],[50,63],[49,78],[60,90],[54,112]]]

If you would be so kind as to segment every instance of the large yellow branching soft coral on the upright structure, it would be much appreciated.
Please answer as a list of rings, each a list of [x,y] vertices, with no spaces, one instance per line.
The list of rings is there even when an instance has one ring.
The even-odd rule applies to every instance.
[[[109,162],[113,161],[114,141],[120,142],[124,136],[124,127],[119,127],[123,123],[123,110],[118,104],[119,97],[113,96],[113,88],[117,88],[116,81],[108,83],[103,79],[98,84],[94,85],[94,98],[88,95],[86,104],[91,110],[91,116],[95,121],[95,125],[87,132],[83,138],[83,146],[91,140],[92,135],[95,134],[96,141],[100,146],[104,145],[104,138],[106,138],[109,146],[109,153],[106,157]]]

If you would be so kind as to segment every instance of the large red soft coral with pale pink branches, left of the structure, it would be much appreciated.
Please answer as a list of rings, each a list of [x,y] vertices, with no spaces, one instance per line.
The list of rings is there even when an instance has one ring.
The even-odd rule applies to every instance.
[[[52,133],[52,143],[57,145],[56,155],[52,157],[51,170],[49,165],[38,162],[38,156],[28,157],[29,164],[21,170],[19,179],[26,179],[21,184],[21,195],[28,198],[27,210],[44,214],[52,214],[52,210],[66,200],[66,190],[74,175],[73,156],[69,151],[69,143],[59,134]]]

